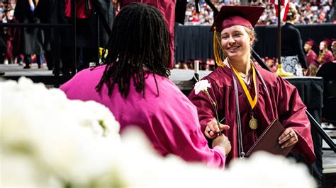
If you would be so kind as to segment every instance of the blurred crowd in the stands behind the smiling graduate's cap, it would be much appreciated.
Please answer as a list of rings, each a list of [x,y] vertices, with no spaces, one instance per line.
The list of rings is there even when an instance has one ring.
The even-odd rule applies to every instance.
[[[213,0],[211,1],[215,7],[220,10],[223,5],[240,5],[239,0]],[[332,10],[332,0],[310,0],[300,1],[291,0],[298,10],[297,23],[311,24],[311,23],[326,23],[334,22],[329,18],[329,13]],[[270,25],[276,24],[278,18],[276,17],[276,11],[274,4],[270,4],[269,0],[264,1],[251,1],[252,6],[264,6],[266,10],[259,19],[259,24]],[[212,25],[213,23],[213,11],[206,4],[205,1],[199,3],[200,13],[196,13],[194,1],[188,1],[186,6],[186,24],[187,25]]]

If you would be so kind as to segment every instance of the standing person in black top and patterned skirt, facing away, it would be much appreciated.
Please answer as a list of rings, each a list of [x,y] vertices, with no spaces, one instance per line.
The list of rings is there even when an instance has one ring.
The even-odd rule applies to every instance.
[[[281,64],[285,71],[296,76],[303,76],[303,71],[308,69],[308,66],[300,31],[294,27],[296,13],[293,4],[290,4],[286,24],[281,27]]]

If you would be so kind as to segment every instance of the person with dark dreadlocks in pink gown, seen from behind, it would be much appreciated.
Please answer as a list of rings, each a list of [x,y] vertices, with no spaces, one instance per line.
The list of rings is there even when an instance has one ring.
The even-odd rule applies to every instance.
[[[129,125],[140,127],[161,155],[224,168],[228,138],[218,136],[209,148],[196,107],[167,78],[169,33],[157,8],[125,6],[113,24],[108,52],[111,61],[84,69],[61,86],[67,98],[106,105],[121,132]]]

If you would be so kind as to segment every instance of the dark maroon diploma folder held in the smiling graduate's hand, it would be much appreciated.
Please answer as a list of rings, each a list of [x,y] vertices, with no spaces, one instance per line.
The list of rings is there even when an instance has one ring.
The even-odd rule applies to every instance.
[[[267,151],[274,155],[284,155],[286,156],[289,151],[293,148],[295,144],[287,148],[281,148],[279,142],[279,136],[285,131],[284,126],[279,122],[278,119],[274,119],[269,127],[265,129],[262,135],[257,139],[249,151],[247,151],[246,156],[249,157],[252,153],[256,151]],[[282,143],[283,144],[283,143]]]

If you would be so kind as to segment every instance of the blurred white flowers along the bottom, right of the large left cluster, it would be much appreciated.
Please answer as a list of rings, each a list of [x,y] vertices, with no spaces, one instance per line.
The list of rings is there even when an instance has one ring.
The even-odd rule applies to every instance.
[[[174,155],[159,158],[134,129],[121,140],[125,160],[118,173],[128,187],[316,187],[306,166],[279,155],[257,152],[222,171],[185,163]]]

